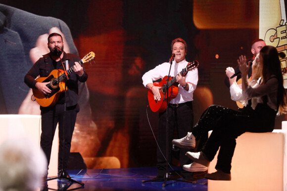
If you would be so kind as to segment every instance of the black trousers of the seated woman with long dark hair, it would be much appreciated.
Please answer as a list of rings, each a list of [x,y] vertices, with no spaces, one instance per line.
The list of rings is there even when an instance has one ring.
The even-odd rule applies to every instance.
[[[203,153],[212,161],[220,147],[215,168],[230,173],[236,138],[244,132],[272,132],[276,112],[264,104],[258,104],[255,110],[247,108],[242,112],[221,106],[211,107],[210,112],[202,115],[196,124],[196,128],[213,130]]]

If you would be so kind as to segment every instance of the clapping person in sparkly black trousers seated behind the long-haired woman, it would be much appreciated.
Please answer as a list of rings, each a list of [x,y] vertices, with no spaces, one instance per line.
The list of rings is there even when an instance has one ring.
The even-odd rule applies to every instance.
[[[282,57],[285,57],[282,56]],[[252,88],[256,88],[259,86],[261,81],[261,75],[262,75],[262,66],[259,65],[259,54],[256,56],[256,58],[253,61],[252,64],[252,80],[250,82],[250,85]],[[226,75],[230,78],[234,74],[233,68],[227,68],[226,69]],[[188,135],[182,139],[173,140],[173,144],[180,147],[180,148],[190,148],[193,149],[195,146],[195,138],[196,140],[200,140],[197,151],[202,151],[204,148],[204,145],[206,143],[206,140],[208,138],[208,131],[213,130],[214,127],[216,127],[217,121],[222,117],[223,114],[233,114],[233,115],[241,115],[246,113],[252,113],[253,109],[251,108],[251,100],[248,102],[248,98],[242,94],[242,89],[239,87],[239,85],[236,82],[235,78],[230,78],[230,93],[231,93],[231,99],[234,101],[240,101],[242,104],[245,105],[245,107],[240,111],[236,112],[234,110],[230,110],[228,108],[224,108],[221,106],[210,106],[205,112],[201,115],[199,121],[197,124],[193,127],[192,133],[188,133]],[[248,104],[249,103],[249,104]],[[252,99],[252,104],[255,106],[257,103],[256,98]],[[253,108],[255,108],[253,106]],[[196,171],[206,171],[207,167],[204,165],[201,165],[199,163],[193,162],[191,164],[186,164],[183,166],[183,169],[190,172],[196,172]]]

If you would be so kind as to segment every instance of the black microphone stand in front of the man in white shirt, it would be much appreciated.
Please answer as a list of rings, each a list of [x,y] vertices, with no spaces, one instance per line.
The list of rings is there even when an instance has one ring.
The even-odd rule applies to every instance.
[[[164,183],[162,184],[162,187],[165,187],[166,185],[166,182],[167,181],[179,181],[179,182],[187,182],[187,183],[193,183],[191,181],[187,181],[187,180],[178,180],[176,178],[171,178],[170,177],[170,171],[169,171],[169,163],[168,163],[168,109],[169,109],[169,99],[168,99],[168,81],[169,81],[169,78],[170,78],[170,70],[171,70],[171,66],[172,66],[172,62],[174,60],[174,57],[170,60],[170,67],[169,67],[169,72],[168,72],[168,76],[166,78],[166,84],[165,84],[165,92],[164,92],[164,96],[163,96],[163,101],[165,101],[165,96],[166,96],[166,151],[165,151],[165,160],[166,160],[166,173],[165,173],[165,176],[164,178],[161,178],[161,179],[153,179],[153,180],[143,180],[142,183],[146,183],[146,182],[160,182],[160,181],[164,181]]]

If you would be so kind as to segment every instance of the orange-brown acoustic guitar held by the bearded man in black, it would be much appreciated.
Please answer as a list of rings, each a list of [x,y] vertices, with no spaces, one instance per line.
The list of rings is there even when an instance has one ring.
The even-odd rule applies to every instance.
[[[79,61],[79,64],[82,65],[86,62],[90,62],[95,59],[95,53],[90,52],[87,54],[82,60]],[[71,67],[67,70],[67,74],[71,74],[74,72],[74,68]],[[65,82],[64,79],[66,75],[63,70],[52,70],[48,77],[39,77],[36,79],[38,82],[50,82],[47,84],[47,87],[52,90],[52,92],[48,95],[44,95],[37,88],[32,89],[33,95],[38,102],[38,104],[42,107],[51,107],[55,105],[58,101],[60,94],[64,91]],[[66,87],[67,89],[67,87]]]

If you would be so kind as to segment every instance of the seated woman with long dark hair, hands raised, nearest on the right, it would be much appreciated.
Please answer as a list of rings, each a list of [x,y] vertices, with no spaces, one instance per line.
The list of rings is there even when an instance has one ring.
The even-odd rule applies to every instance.
[[[215,108],[216,117],[205,118],[203,115],[196,125],[209,126],[213,131],[201,152],[186,153],[194,162],[208,167],[220,147],[215,166],[217,171],[205,175],[210,180],[231,180],[231,160],[239,135],[244,132],[272,132],[276,114],[286,113],[286,91],[277,49],[264,46],[260,50],[262,80],[257,88],[252,88],[247,79],[250,65],[247,65],[246,57],[240,56],[238,64],[242,76],[242,94],[246,100],[251,99],[251,108],[244,107],[237,112],[218,106]]]

